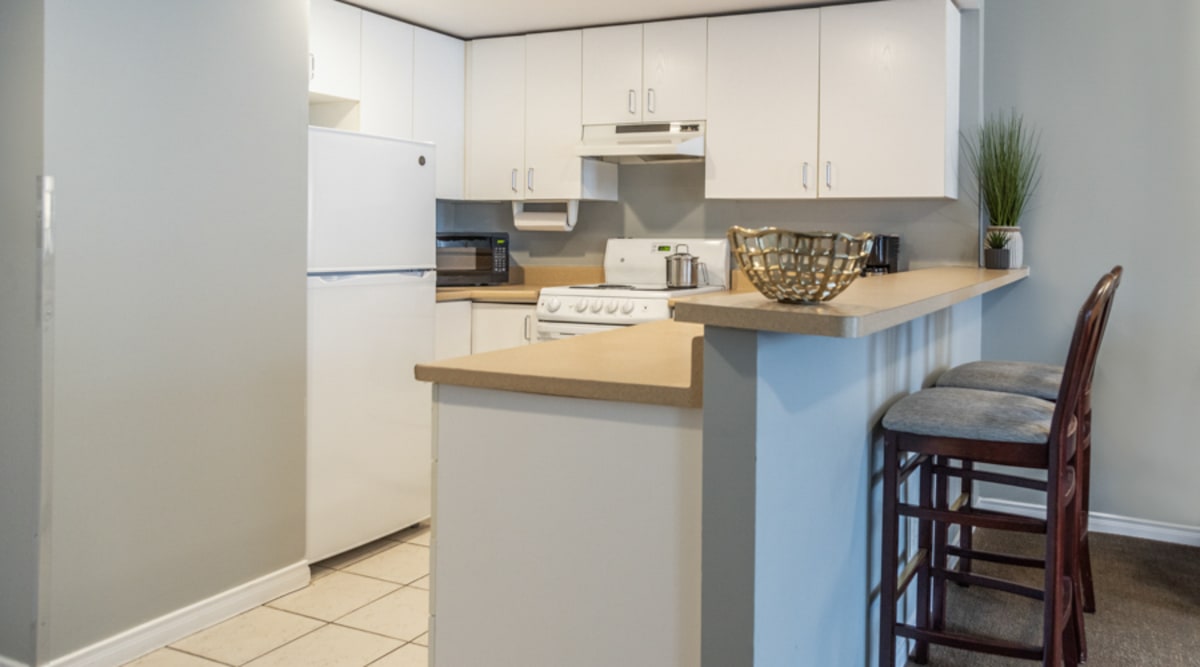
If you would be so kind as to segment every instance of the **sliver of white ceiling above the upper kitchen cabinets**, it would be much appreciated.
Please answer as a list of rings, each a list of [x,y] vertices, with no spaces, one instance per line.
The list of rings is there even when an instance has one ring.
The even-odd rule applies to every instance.
[[[475,38],[853,0],[349,0],[456,37]],[[859,0],[862,1],[862,0]]]

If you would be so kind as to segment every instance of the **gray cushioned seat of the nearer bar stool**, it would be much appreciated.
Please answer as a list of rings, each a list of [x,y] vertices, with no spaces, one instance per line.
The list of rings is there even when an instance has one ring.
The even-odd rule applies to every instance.
[[[896,401],[883,415],[892,431],[1044,444],[1050,438],[1054,403],[1002,391],[934,386]]]

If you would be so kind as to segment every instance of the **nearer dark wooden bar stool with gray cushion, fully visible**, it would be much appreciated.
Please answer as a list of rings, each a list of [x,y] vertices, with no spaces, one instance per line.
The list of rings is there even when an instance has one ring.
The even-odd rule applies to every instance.
[[[1078,665],[1085,651],[1078,602],[1079,516],[1076,487],[1078,414],[1084,386],[1092,374],[1099,347],[1103,313],[1111,302],[1116,277],[1106,274],[1079,312],[1055,402],[986,390],[931,387],[898,401],[884,415],[883,540],[880,584],[880,665],[894,667],[898,637],[914,639],[912,659],[928,660],[929,644],[1040,660],[1045,666]],[[947,462],[961,461],[953,467]],[[1044,469],[1045,481],[976,470],[977,463]],[[970,465],[968,465],[970,464]],[[900,485],[918,473],[916,504],[900,497]],[[971,506],[947,506],[950,477],[997,481],[1039,488],[1046,493],[1046,517],[1032,518],[986,512]],[[908,494],[906,494],[907,497]],[[900,519],[916,519],[918,549],[899,571]],[[1044,533],[1040,588],[959,572],[947,567],[952,554],[947,527],[965,534],[982,525],[992,529]],[[1016,565],[1027,559],[982,554],[959,548],[960,558],[988,558]],[[946,630],[946,582],[955,581],[1025,595],[1043,602],[1042,644],[1022,645],[995,637]],[[900,594],[916,584],[916,624],[896,620]]]

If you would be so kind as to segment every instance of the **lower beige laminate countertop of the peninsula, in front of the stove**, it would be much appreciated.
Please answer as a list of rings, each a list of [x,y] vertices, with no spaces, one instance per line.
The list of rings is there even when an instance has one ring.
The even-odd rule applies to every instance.
[[[660,320],[416,366],[416,379],[479,389],[698,408],[704,328]]]

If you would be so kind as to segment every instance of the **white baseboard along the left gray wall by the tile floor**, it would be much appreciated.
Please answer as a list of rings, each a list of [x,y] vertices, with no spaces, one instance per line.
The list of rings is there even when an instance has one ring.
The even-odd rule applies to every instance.
[[[161,649],[204,630],[222,620],[233,618],[259,605],[298,590],[308,584],[308,561],[301,560],[294,565],[276,570],[236,588],[218,593],[206,600],[200,600],[169,614],[146,621],[53,660],[46,667],[110,667],[124,665],[152,650]],[[13,662],[0,667],[25,667]]]

